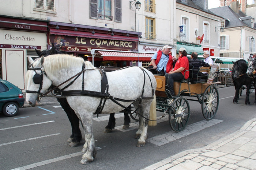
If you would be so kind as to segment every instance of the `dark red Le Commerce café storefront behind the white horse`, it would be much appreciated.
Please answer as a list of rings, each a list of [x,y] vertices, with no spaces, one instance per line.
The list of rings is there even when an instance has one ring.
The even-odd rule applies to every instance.
[[[138,51],[140,32],[125,31],[111,28],[93,27],[88,25],[49,22],[48,49],[52,43],[55,47],[70,54],[92,61],[91,50]],[[100,55],[100,54],[98,54]],[[112,60],[95,56],[94,66],[129,66],[131,60],[124,57]]]

